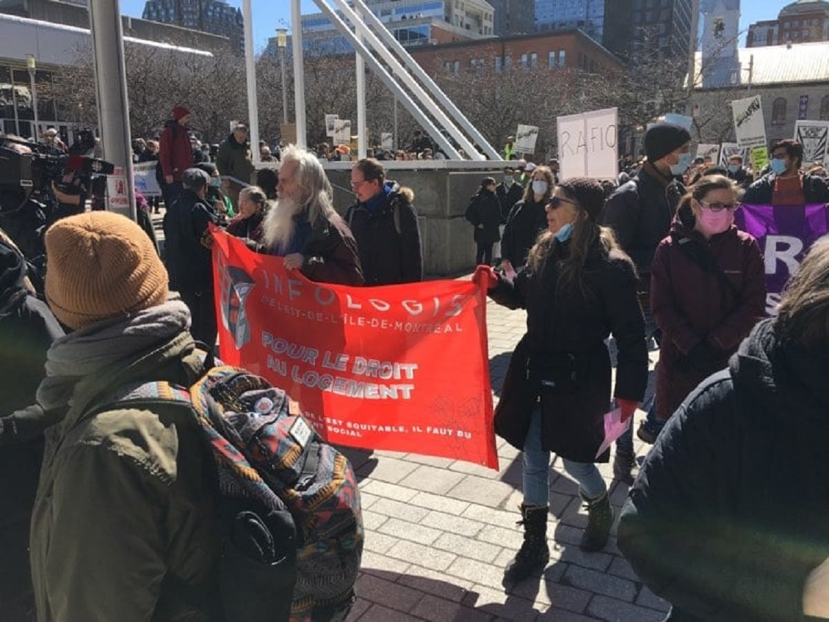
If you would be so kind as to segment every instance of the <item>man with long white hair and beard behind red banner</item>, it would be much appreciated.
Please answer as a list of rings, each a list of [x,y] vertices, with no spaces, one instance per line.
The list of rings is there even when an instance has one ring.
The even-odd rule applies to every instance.
[[[356,241],[334,211],[331,183],[318,158],[288,148],[277,191],[279,198],[263,223],[264,252],[283,257],[285,268],[313,281],[363,284]]]

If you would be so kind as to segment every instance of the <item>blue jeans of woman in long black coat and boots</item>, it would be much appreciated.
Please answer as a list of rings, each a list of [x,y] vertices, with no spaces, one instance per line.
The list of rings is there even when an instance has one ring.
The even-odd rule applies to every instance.
[[[524,441],[522,471],[525,505],[550,504],[550,452],[541,448],[541,408],[536,407],[530,418],[530,430]],[[585,498],[595,499],[607,492],[599,469],[592,462],[562,459],[567,471],[579,483]]]

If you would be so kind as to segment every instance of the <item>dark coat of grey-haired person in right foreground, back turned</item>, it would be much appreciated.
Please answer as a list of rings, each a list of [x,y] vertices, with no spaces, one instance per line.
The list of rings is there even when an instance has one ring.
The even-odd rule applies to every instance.
[[[618,547],[677,620],[804,620],[829,557],[829,356],[773,327],[668,420],[622,510]]]

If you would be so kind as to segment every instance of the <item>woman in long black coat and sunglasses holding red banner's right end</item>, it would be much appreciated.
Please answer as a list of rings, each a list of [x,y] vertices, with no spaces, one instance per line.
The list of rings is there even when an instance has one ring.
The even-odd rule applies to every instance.
[[[531,250],[516,279],[479,266],[498,304],[527,311],[527,332],[513,352],[496,411],[496,431],[522,449],[521,550],[505,580],[521,581],[550,560],[546,522],[550,453],[579,484],[588,524],[579,544],[596,552],[608,542],[613,509],[594,463],[604,440],[604,413],[611,399],[605,339],[618,343],[615,396],[623,418],[633,415],[647,384],[647,347],[633,262],[610,229],[599,226],[604,189],[574,177],[559,186],[545,210],[548,230]]]

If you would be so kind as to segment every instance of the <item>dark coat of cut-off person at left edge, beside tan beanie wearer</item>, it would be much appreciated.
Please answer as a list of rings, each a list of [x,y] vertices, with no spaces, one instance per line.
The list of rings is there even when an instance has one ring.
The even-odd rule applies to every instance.
[[[51,343],[63,336],[61,325],[24,285],[22,256],[0,242],[0,603],[3,620],[34,620],[29,570],[29,522],[43,459],[43,435],[31,434],[20,413],[35,403],[46,377]],[[42,412],[42,411],[41,411]],[[11,415],[11,416],[10,416]],[[25,440],[19,440],[23,436]]]

